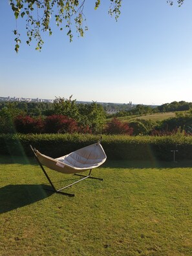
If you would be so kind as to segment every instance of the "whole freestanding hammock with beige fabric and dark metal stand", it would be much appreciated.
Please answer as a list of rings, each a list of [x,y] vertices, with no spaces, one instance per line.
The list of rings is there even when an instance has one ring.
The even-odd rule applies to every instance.
[[[30,148],[32,149],[32,152],[34,153],[34,156],[39,166],[41,167],[44,175],[46,176],[48,182],[50,183],[51,187],[45,188],[47,190],[53,191],[54,193],[68,195],[69,197],[74,197],[74,194],[65,193],[62,190],[66,189],[67,187],[71,187],[72,185],[78,182],[81,182],[86,178],[103,180],[103,178],[97,178],[97,177],[91,176],[92,169],[100,166],[107,159],[107,156],[105,155],[105,152],[100,142],[89,145],[87,147],[83,147],[81,149],[78,149],[77,151],[70,153],[69,155],[61,156],[60,158],[51,158],[49,156],[42,155],[41,153],[39,153],[39,151],[37,151],[37,149],[33,148],[32,145],[30,145]],[[82,162],[82,159],[84,163]],[[89,164],[86,164],[87,162]],[[56,187],[50,180],[50,177],[48,176],[47,172],[45,171],[45,168],[43,167],[43,165],[55,171],[59,171],[61,173],[74,174],[76,176],[81,176],[83,178],[65,187],[56,189]],[[89,170],[89,175],[78,174],[86,170]]]

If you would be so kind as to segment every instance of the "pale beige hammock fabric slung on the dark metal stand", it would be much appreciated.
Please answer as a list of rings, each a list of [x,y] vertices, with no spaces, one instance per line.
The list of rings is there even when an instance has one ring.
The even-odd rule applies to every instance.
[[[69,155],[51,158],[35,151],[39,162],[46,167],[60,173],[80,173],[93,169],[105,162],[107,156],[100,143],[78,149]]]

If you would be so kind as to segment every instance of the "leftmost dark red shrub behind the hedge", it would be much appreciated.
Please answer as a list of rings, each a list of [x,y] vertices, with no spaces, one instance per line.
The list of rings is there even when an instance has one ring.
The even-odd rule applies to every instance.
[[[17,133],[41,133],[43,131],[43,121],[41,118],[30,116],[16,116],[14,126]]]

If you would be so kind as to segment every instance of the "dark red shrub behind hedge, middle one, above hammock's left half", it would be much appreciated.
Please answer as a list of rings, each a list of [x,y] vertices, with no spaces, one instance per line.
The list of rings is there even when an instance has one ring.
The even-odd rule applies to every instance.
[[[62,114],[47,116],[44,131],[45,133],[74,133],[78,132],[78,123]]]

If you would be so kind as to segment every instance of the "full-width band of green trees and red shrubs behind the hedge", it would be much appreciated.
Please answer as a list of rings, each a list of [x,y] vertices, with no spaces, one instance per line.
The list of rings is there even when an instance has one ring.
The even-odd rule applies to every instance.
[[[142,115],[160,111],[178,112],[175,118],[161,122],[143,119],[120,122],[116,117],[121,114],[127,116],[127,111],[123,111],[107,122],[107,115],[101,104],[76,103],[71,96],[69,100],[56,98],[54,103],[5,102],[0,103],[0,134],[89,133],[132,136],[192,134],[192,107],[191,103],[186,101],[173,101],[156,108],[137,105],[130,113]]]

